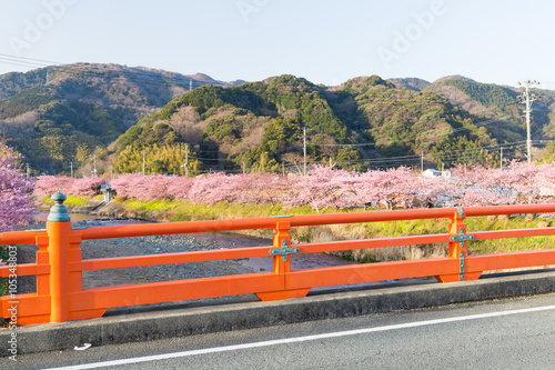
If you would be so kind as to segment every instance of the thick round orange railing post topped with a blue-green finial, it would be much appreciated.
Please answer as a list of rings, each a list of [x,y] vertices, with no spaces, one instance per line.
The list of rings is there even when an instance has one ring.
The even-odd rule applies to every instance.
[[[65,196],[57,192],[47,219],[50,259],[50,322],[69,320],[69,258],[71,219],[63,204]]]

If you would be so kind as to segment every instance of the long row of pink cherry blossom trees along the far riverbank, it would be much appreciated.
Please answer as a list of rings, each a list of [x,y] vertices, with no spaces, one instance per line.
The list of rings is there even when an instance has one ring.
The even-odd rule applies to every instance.
[[[102,183],[98,177],[39,177],[38,196],[60,190],[90,196]],[[322,208],[405,208],[423,204],[494,206],[555,201],[555,164],[512,162],[508,169],[456,166],[451,177],[424,178],[408,168],[363,173],[314,167],[306,176],[202,174],[195,178],[124,174],[111,178],[122,198],[185,199],[196,204],[216,202],[309,206]]]

